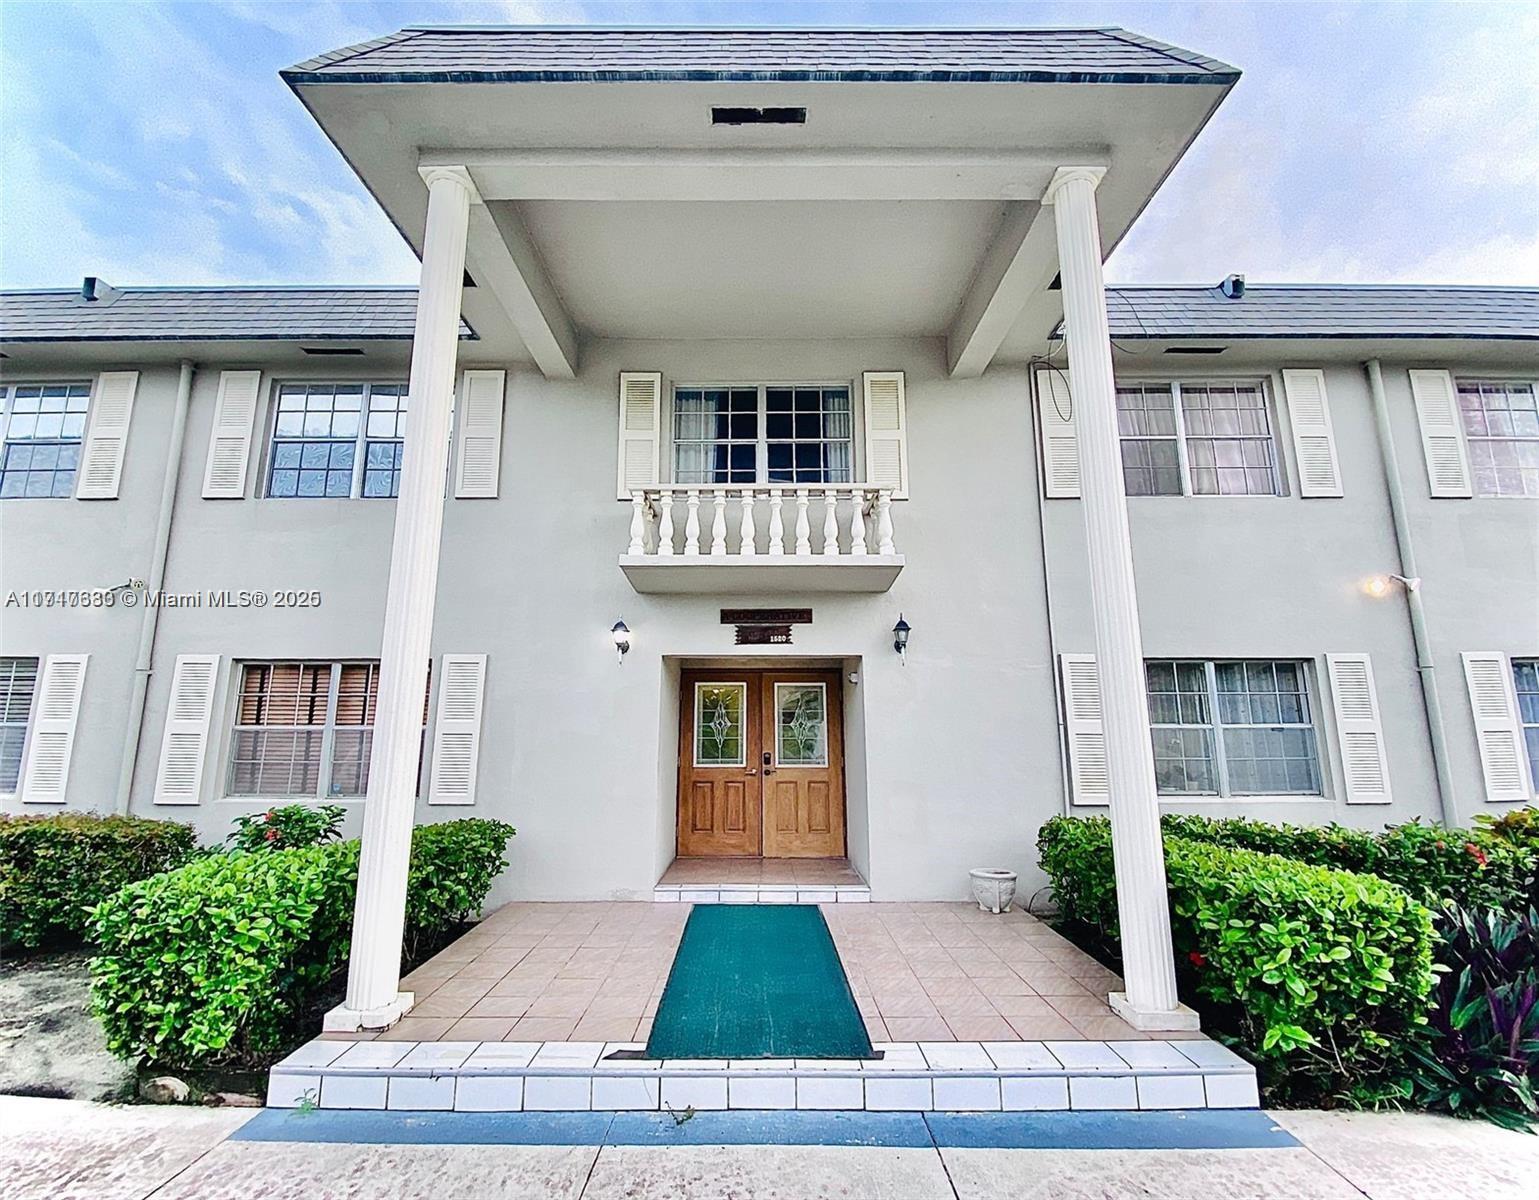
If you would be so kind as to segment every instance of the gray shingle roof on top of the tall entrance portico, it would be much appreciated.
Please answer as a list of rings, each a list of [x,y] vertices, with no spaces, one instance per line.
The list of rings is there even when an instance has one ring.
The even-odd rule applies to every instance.
[[[297,83],[853,80],[1233,83],[1125,29],[408,28],[283,74]]]

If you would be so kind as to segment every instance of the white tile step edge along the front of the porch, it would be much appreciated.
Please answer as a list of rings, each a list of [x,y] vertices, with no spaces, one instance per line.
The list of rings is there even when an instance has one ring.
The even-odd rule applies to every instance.
[[[605,1062],[620,1042],[331,1042],[272,1068],[269,1108],[631,1109],[1257,1108],[1256,1071],[1208,1038],[883,1042],[882,1060]]]

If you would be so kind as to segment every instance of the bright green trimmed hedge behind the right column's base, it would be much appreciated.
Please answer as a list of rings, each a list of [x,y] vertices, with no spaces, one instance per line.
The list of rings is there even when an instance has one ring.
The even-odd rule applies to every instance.
[[[1063,914],[1114,938],[1107,818],[1056,817],[1037,846]],[[1256,1060],[1271,1098],[1397,1085],[1404,1043],[1427,1028],[1425,906],[1373,875],[1177,837],[1165,875],[1183,989]]]

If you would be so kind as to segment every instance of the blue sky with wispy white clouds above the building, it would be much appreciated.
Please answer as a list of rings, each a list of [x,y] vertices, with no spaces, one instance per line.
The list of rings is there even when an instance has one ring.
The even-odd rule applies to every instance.
[[[277,78],[422,23],[1120,25],[1245,77],[1116,282],[1539,283],[1539,3],[0,0],[0,286],[411,283]]]

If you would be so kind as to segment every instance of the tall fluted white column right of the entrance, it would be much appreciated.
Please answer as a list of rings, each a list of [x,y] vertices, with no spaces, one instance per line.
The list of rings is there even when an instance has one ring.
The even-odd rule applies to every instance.
[[[1079,435],[1080,508],[1090,554],[1090,611],[1096,626],[1100,720],[1111,783],[1111,852],[1125,992],[1111,1006],[1139,1029],[1196,1029],[1197,1014],[1176,997],[1176,962],[1165,892],[1165,848],[1150,749],[1133,548],[1122,485],[1111,329],[1100,269],[1096,166],[1059,168],[1045,203],[1053,205],[1063,334],[1074,426]]]

